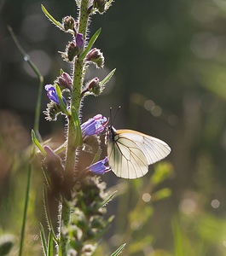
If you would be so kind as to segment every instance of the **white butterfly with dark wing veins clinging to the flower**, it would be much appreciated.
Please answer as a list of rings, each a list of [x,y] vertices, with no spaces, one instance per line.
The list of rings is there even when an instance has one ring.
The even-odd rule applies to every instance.
[[[148,172],[148,166],[164,159],[171,148],[158,138],[138,131],[107,127],[107,158],[118,177],[137,178]]]

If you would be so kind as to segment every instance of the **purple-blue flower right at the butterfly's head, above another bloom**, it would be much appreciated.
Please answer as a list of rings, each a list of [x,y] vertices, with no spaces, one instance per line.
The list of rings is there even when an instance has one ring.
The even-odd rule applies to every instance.
[[[81,125],[81,130],[83,132],[83,137],[91,135],[99,135],[107,125],[107,118],[103,117],[101,114],[96,114],[93,118],[84,122]]]

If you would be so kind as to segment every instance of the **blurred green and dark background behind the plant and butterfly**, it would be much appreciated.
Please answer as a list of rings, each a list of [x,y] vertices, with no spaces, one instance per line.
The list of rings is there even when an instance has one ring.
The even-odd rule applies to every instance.
[[[45,84],[60,68],[70,72],[57,52],[70,37],[50,24],[41,3],[56,20],[78,14],[72,0],[0,1],[0,234],[16,237],[38,80],[7,26]],[[106,66],[90,68],[86,79],[117,71],[102,96],[84,100],[84,120],[96,113],[108,116],[110,107],[120,105],[116,128],[159,137],[172,152],[137,181],[112,173],[104,177],[119,196],[107,206],[115,220],[96,255],[109,255],[124,242],[125,255],[226,255],[226,2],[116,0],[105,15],[92,18],[90,35],[99,27],[96,47]],[[47,102],[43,92],[42,110]],[[61,142],[63,119],[49,123],[42,115],[40,132]],[[32,175],[26,230],[26,250],[37,255],[38,223],[44,222],[41,183],[39,170]]]

